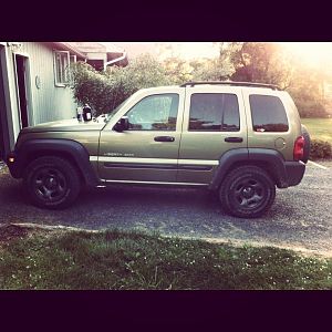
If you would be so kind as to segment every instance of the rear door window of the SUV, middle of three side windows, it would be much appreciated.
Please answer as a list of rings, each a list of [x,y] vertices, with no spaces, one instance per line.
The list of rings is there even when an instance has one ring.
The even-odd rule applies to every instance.
[[[228,93],[195,93],[190,98],[189,131],[238,132],[238,97]]]

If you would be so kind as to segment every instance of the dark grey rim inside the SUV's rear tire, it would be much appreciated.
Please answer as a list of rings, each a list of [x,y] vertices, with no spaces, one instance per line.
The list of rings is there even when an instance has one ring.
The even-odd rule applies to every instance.
[[[240,178],[231,186],[235,204],[241,209],[257,209],[267,198],[264,184],[252,177]]]

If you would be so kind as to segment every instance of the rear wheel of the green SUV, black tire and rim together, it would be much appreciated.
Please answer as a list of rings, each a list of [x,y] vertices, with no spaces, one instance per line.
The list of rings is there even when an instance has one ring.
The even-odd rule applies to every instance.
[[[270,209],[276,185],[269,174],[257,166],[231,170],[222,181],[219,198],[224,209],[240,218],[257,218]]]

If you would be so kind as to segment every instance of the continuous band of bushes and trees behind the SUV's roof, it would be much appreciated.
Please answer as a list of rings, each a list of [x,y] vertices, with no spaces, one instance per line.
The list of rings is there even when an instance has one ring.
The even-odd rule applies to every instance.
[[[166,58],[162,62],[145,54],[131,61],[126,68],[112,66],[106,72],[96,72],[86,63],[77,63],[72,84],[75,100],[80,104],[90,104],[101,114],[111,112],[143,87],[230,79],[277,84],[290,93],[301,117],[328,116],[323,81],[332,77],[322,69],[302,65],[278,43],[215,44],[219,48],[219,55],[215,59],[186,61],[172,45],[166,45],[163,51]]]

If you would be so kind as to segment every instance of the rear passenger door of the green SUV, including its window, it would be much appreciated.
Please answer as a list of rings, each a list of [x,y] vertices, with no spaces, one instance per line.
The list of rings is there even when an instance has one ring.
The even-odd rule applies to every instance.
[[[229,149],[247,147],[240,87],[186,87],[177,181],[209,184]]]

